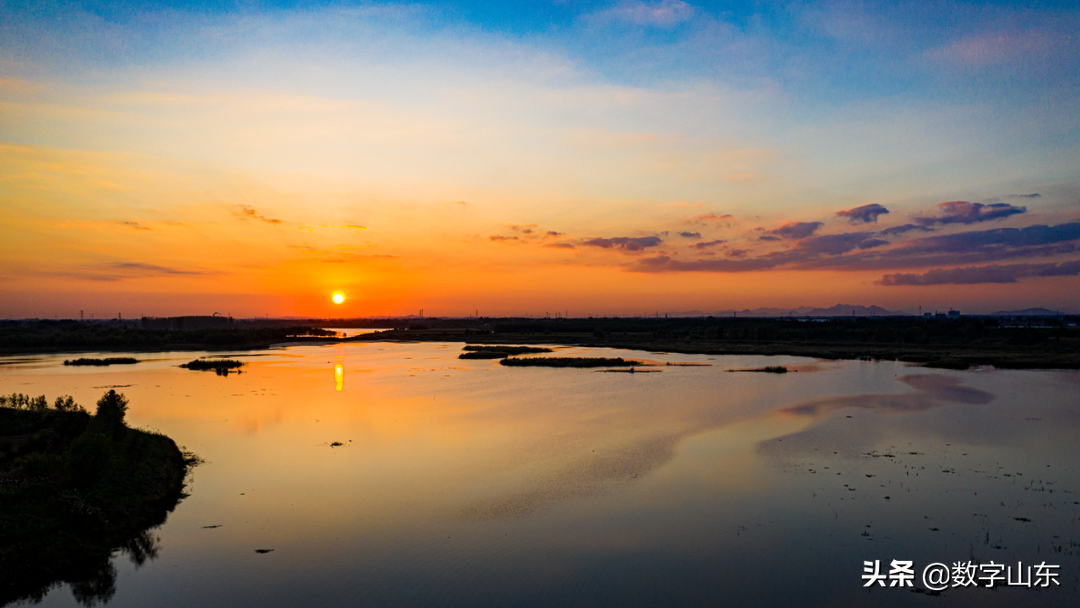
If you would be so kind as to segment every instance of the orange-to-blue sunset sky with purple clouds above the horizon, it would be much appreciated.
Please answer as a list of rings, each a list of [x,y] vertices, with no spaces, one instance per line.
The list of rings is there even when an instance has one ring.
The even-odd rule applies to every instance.
[[[0,315],[1080,312],[1078,31],[1076,2],[6,1]]]

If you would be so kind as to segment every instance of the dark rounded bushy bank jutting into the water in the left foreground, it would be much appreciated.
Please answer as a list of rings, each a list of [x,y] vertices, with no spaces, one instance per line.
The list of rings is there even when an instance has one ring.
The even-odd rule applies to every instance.
[[[92,416],[71,397],[0,396],[0,606],[68,583],[82,604],[116,592],[110,559],[157,556],[149,529],[184,495],[194,457],[124,423],[109,391]]]

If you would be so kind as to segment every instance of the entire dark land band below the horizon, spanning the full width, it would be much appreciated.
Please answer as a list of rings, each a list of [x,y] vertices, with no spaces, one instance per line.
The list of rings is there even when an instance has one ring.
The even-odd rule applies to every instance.
[[[244,322],[230,329],[154,330],[77,321],[0,322],[0,354],[78,350],[262,349],[282,343],[465,342],[469,357],[511,344],[564,344],[710,355],[889,360],[966,369],[1080,369],[1080,317],[960,319],[359,319]],[[240,322],[238,322],[239,324]],[[340,338],[324,327],[394,327]],[[485,352],[487,351],[487,352]],[[499,354],[496,354],[499,353]],[[511,353],[512,354],[512,353]]]

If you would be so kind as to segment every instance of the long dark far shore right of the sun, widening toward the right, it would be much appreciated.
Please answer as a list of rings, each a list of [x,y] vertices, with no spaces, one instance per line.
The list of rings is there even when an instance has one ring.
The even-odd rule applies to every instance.
[[[395,329],[345,341],[567,344],[686,354],[888,360],[967,369],[1080,369],[1080,315],[828,319],[589,317],[379,320]],[[348,326],[345,321],[335,326]]]

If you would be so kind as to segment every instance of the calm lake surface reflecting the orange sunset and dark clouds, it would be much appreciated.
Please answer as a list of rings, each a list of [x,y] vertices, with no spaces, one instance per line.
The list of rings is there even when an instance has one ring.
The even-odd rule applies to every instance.
[[[1077,373],[559,350],[707,365],[354,343],[230,353],[244,373],[219,377],[178,367],[204,353],[42,355],[0,357],[0,392],[117,388],[132,425],[206,460],[158,558],[116,558],[109,606],[1080,603]],[[762,365],[797,373],[726,371]],[[873,559],[1045,562],[1061,585],[867,591]]]

